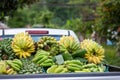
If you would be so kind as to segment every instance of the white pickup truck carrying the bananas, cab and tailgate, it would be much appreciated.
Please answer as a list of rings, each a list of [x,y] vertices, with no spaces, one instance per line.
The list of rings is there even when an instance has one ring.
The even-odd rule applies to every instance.
[[[13,38],[15,34],[20,32],[28,32],[34,41],[37,41],[42,36],[53,36],[59,40],[63,35],[71,35],[79,42],[76,34],[72,30],[49,28],[1,29],[0,38]],[[107,72],[0,75],[0,80],[120,80],[120,67],[108,64],[104,65],[108,68]]]

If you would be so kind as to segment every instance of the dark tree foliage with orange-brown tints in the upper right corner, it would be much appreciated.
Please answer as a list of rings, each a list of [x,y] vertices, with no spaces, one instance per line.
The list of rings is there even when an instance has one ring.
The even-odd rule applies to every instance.
[[[102,35],[112,41],[116,40],[115,36],[120,26],[120,1],[119,0],[101,0],[99,11],[99,19],[101,21]],[[109,32],[107,32],[109,30]],[[117,35],[119,36],[119,35]]]

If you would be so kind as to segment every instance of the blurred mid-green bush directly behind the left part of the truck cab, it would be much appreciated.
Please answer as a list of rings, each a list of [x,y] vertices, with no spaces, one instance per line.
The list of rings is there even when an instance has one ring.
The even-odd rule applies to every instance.
[[[53,13],[47,8],[39,8],[39,4],[33,4],[31,6],[25,6],[23,9],[18,8],[13,17],[9,17],[7,24],[10,27],[25,27],[33,24],[49,24],[49,20],[52,18]]]

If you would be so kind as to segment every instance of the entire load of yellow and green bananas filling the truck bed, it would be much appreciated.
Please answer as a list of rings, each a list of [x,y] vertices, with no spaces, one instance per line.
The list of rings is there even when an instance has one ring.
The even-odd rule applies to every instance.
[[[103,60],[104,49],[89,39],[43,36],[35,42],[21,32],[0,41],[0,74],[104,72]]]

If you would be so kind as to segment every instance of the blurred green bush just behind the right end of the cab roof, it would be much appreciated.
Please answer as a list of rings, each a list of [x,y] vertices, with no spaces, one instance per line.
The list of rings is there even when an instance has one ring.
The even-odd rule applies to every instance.
[[[82,36],[83,38],[89,38],[90,35],[86,35],[92,32],[91,25],[93,24],[93,21],[84,22],[81,18],[76,18],[72,20],[67,20],[67,23],[63,26],[63,28],[71,29],[78,36]]]

